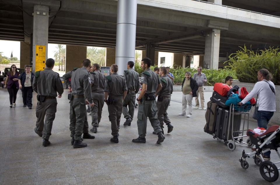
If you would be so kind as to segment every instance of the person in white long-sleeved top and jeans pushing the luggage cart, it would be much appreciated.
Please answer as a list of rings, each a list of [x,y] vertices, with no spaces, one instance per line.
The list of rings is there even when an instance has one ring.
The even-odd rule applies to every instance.
[[[275,112],[275,85],[271,79],[271,74],[269,74],[269,71],[267,69],[260,69],[258,71],[258,81],[255,86],[253,87],[253,90],[238,104],[243,105],[247,101],[249,101],[251,98],[253,98],[255,95],[258,94],[258,100],[257,103],[259,104],[258,109],[258,126],[267,129],[267,124],[269,123],[269,120],[273,116]],[[270,86],[274,89],[274,92],[270,88]],[[252,148],[254,151],[255,148]],[[265,152],[263,154],[263,158],[265,160],[270,160],[270,151]]]

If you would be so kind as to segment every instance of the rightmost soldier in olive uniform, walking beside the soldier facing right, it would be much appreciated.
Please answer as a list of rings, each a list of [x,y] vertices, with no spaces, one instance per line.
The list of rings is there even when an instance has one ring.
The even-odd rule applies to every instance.
[[[159,70],[160,82],[162,84],[162,89],[157,92],[157,119],[160,121],[160,127],[163,132],[163,122],[167,125],[167,133],[172,132],[173,126],[171,125],[170,119],[168,118],[167,109],[170,103],[170,97],[173,92],[173,81],[166,75],[166,67],[161,67]],[[153,134],[156,134],[153,131]]]

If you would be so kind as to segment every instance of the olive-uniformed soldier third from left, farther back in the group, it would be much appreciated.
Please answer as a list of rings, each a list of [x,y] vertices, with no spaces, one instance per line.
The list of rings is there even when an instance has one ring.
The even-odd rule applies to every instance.
[[[100,71],[99,64],[92,64],[90,72],[91,80],[91,92],[94,106],[90,109],[91,118],[92,118],[92,129],[91,132],[97,133],[97,127],[101,120],[102,108],[104,106],[104,89],[105,89],[105,75]]]

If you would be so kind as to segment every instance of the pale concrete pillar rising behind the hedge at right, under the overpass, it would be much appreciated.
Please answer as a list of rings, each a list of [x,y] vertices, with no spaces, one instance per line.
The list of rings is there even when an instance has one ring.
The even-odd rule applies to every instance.
[[[204,61],[205,68],[218,69],[220,52],[220,29],[213,29],[213,32],[206,34]]]

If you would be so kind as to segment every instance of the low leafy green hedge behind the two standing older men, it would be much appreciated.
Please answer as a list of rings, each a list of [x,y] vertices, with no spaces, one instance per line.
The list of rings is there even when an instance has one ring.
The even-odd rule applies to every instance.
[[[185,72],[189,71],[191,76],[197,73],[197,68],[183,68],[178,66],[177,68],[170,68],[170,73],[174,75],[174,84],[181,85],[183,79],[185,78]],[[223,69],[202,69],[202,73],[205,74],[207,82],[204,85],[213,86],[216,82],[223,83],[223,79],[226,76],[232,76],[233,79],[236,79],[235,71],[229,68]]]

